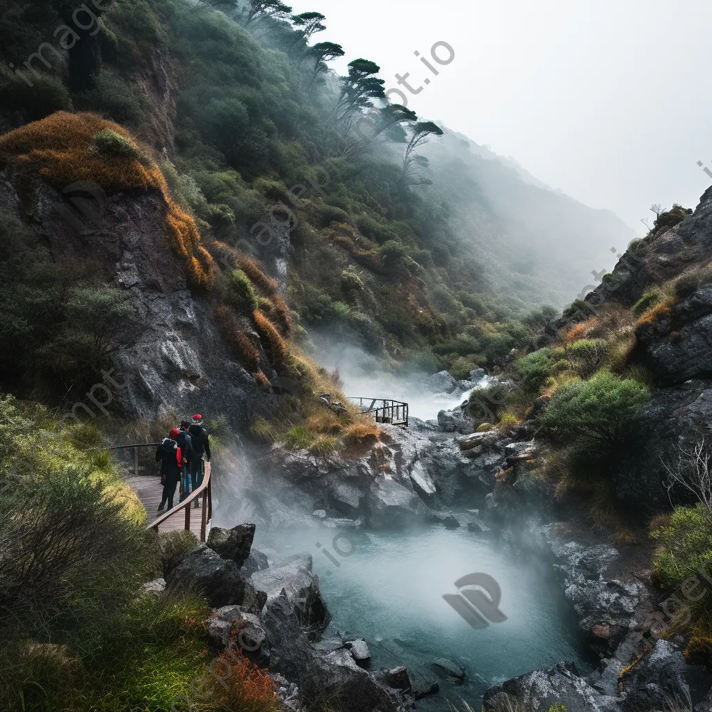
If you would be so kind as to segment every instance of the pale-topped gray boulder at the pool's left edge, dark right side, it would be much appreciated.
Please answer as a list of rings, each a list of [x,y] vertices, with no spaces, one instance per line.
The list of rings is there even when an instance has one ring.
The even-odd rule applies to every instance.
[[[254,572],[250,577],[256,590],[273,601],[280,596],[295,607],[300,623],[310,627],[325,627],[330,616],[319,590],[319,577],[312,570],[312,557],[297,554],[278,566]]]

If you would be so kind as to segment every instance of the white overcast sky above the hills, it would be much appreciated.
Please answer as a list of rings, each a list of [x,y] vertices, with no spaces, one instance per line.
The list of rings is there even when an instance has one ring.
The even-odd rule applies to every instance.
[[[365,57],[387,88],[396,73],[414,88],[430,77],[409,108],[637,231],[652,203],[694,207],[712,184],[697,165],[712,170],[710,0],[292,4],[327,16],[313,42],[343,46],[340,73]],[[433,76],[414,51],[437,41],[456,56]]]

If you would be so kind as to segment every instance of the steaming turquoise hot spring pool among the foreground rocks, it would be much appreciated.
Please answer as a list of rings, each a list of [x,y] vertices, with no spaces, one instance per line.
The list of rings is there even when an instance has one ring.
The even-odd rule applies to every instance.
[[[459,698],[478,709],[488,686],[561,660],[591,669],[550,565],[525,562],[482,535],[441,526],[342,534],[321,528],[258,533],[256,545],[280,556],[313,555],[333,617],[330,629],[364,637],[372,667],[431,670],[431,661],[442,656],[466,669],[464,684],[441,680],[439,696],[420,700],[419,709],[445,710],[446,699]],[[456,593],[455,580],[472,572],[498,582],[505,621],[473,629],[443,599]]]

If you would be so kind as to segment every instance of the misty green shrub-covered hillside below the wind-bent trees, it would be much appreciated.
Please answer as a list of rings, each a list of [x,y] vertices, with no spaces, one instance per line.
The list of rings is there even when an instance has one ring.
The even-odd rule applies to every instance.
[[[9,3],[6,63],[23,68],[61,6]],[[419,150],[404,172],[422,121],[390,105],[359,127],[360,112],[381,103],[377,66],[339,83],[318,61],[318,35],[308,44],[283,19],[259,16],[246,28],[244,15],[221,8],[118,0],[100,19],[96,67],[46,48],[49,68],[35,58],[36,73],[1,70],[2,123],[97,112],[136,137],[205,243],[259,257],[288,234],[297,334],[299,325],[333,329],[394,362],[462,377],[522,344],[536,294],[496,294],[452,226],[448,186],[427,184]]]

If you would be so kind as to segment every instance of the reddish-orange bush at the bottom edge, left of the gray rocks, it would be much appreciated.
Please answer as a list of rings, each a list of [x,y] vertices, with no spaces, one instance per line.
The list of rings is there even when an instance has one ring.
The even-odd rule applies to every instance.
[[[221,654],[214,661],[216,676],[227,688],[221,691],[219,702],[224,710],[240,712],[277,712],[277,686],[266,670],[256,666],[241,652]]]

